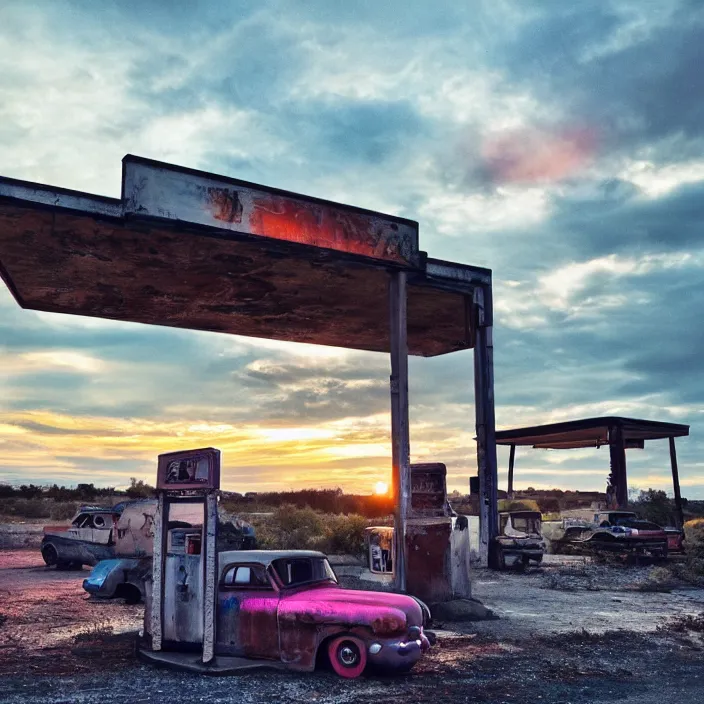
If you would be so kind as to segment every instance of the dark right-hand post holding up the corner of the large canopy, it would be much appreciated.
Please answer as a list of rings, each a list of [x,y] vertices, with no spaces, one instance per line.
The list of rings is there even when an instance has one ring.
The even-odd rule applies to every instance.
[[[496,420],[494,412],[494,343],[491,287],[475,289],[474,404],[479,473],[479,554],[489,564],[499,529]]]

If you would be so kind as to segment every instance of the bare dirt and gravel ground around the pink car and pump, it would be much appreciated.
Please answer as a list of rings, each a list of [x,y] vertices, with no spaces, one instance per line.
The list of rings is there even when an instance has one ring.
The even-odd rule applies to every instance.
[[[648,589],[648,568],[557,562],[475,574],[497,620],[437,624],[410,675],[343,681],[328,672],[211,678],[134,657],[141,607],[89,599],[88,571],[35,551],[0,552],[0,702],[449,702],[700,704],[704,591]]]

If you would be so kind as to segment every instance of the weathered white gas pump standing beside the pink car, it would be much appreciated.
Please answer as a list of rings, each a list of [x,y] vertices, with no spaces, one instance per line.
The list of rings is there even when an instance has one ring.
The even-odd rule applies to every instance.
[[[144,630],[150,649],[214,657],[217,590],[217,497],[220,451],[159,455],[151,584]],[[179,520],[188,516],[188,520]]]

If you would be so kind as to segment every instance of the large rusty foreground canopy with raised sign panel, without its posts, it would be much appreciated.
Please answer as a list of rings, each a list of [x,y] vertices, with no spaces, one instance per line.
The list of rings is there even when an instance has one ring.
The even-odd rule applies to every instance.
[[[487,269],[428,258],[418,224],[128,155],[122,197],[0,178],[0,274],[23,308],[388,352],[474,344]]]

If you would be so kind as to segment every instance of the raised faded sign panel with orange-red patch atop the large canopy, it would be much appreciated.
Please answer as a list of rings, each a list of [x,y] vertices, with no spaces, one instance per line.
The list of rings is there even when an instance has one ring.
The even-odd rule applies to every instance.
[[[125,213],[415,264],[418,224],[138,157],[123,161]]]

